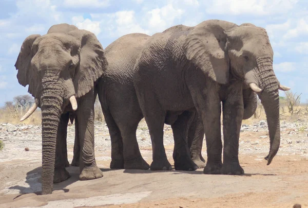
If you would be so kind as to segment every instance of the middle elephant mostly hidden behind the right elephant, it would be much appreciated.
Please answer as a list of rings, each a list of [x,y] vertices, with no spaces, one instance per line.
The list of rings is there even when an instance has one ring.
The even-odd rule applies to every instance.
[[[149,168],[148,164],[142,159],[136,138],[137,126],[143,115],[132,82],[133,66],[140,51],[149,39],[150,36],[146,34],[127,34],[105,48],[108,68],[100,78],[98,94],[111,137],[112,161],[110,168]],[[252,93],[252,95],[255,94]],[[246,117],[251,117],[254,114],[257,104],[257,99],[252,99],[249,96],[245,99],[246,106],[244,112],[246,112]],[[256,98],[256,96],[253,96],[253,98]],[[189,159],[189,155],[185,158],[186,154],[177,160],[177,154],[181,154],[181,152],[175,148],[174,158],[177,170],[193,170],[196,169],[196,165],[199,168],[205,166],[205,160],[201,155],[204,137],[203,125],[201,120],[199,120],[198,114],[194,110],[191,111],[191,119],[193,120],[187,121],[186,125],[183,124],[183,128],[188,130],[188,140],[183,137],[177,138],[178,135],[176,134],[174,138],[175,143],[180,143],[181,140],[188,142],[190,157],[193,162]],[[190,122],[191,125],[189,125]],[[176,129],[177,116],[166,115],[165,123],[170,124],[175,132],[179,131]],[[74,162],[78,161],[78,151],[78,144],[75,143],[72,162],[74,166],[79,165]]]

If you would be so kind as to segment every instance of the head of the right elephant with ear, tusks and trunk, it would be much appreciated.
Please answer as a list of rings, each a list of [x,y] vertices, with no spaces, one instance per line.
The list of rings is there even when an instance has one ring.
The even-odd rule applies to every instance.
[[[254,93],[257,93],[268,124],[270,148],[265,159],[269,165],[280,145],[278,89],[290,88],[281,85],[275,76],[274,53],[266,30],[253,24],[238,26],[220,20],[204,21],[188,32],[184,53],[215,82],[227,84],[232,79],[240,79],[244,82],[244,96],[256,99]],[[244,113],[243,118],[250,116]]]

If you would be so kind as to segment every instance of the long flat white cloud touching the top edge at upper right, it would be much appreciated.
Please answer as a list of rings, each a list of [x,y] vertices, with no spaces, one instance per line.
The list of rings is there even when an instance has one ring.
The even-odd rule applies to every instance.
[[[291,10],[298,0],[212,0],[206,12],[210,14],[269,15]]]

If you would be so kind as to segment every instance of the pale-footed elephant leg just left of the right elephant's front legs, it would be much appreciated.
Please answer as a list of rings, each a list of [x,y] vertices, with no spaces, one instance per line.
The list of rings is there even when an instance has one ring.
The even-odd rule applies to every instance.
[[[188,129],[188,148],[190,152],[190,157],[198,168],[205,167],[205,160],[202,157],[202,146],[203,146],[204,129],[202,120],[199,118],[196,112],[194,120],[192,120]]]

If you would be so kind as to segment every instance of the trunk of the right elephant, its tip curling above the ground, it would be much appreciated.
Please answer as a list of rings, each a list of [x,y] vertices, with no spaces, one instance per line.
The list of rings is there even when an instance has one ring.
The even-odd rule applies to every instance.
[[[270,140],[269,153],[264,159],[267,160],[267,165],[269,165],[280,146],[279,81],[273,71],[272,61],[261,59],[257,63],[259,68],[257,83],[262,89],[257,94],[265,110]]]

